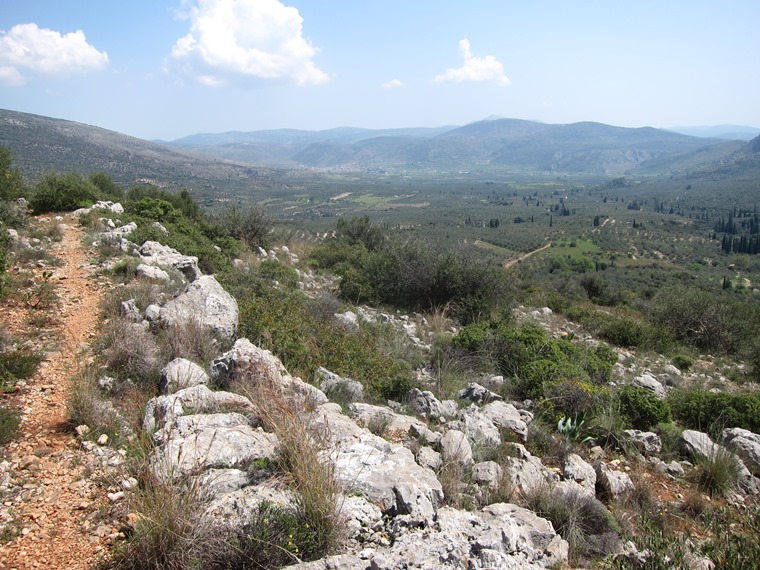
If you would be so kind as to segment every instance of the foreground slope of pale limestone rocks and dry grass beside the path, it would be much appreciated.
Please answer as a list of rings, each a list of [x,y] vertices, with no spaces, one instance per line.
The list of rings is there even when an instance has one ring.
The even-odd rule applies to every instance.
[[[254,305],[162,245],[161,223],[151,225],[158,239],[134,243],[144,230],[124,223],[119,204],[77,216],[99,252],[93,269],[115,282],[69,405],[82,448],[118,482],[100,514],[113,540],[105,567],[750,567],[760,436],[729,424],[716,442],[664,414],[674,386],[721,380],[715,362],[684,372],[664,357],[612,352],[604,386],[570,378],[555,398],[619,390],[620,405],[657,428],[622,429],[600,412],[589,430],[583,414],[557,423],[550,399],[510,398],[515,379],[503,375],[460,369],[444,397],[437,335],[467,330],[475,343],[481,329],[322,301],[347,337],[381,327],[395,331],[385,342],[427,355],[416,386],[381,400],[324,367],[308,381],[293,374],[260,346],[274,323],[246,338]],[[266,274],[251,281],[259,299],[287,295],[291,279],[320,298],[329,281],[299,261],[288,248],[260,249],[235,259],[226,282]],[[535,351],[595,366],[594,355],[610,354],[548,308],[515,316],[535,325],[524,333],[543,343]],[[317,350],[299,352],[306,342],[288,350]]]

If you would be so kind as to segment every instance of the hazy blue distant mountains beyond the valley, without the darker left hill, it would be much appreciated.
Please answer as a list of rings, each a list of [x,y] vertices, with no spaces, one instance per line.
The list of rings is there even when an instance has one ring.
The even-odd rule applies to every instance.
[[[281,167],[466,169],[490,165],[611,175],[653,162],[666,167],[668,159],[705,147],[716,147],[720,156],[738,148],[719,137],[705,140],[661,129],[502,118],[438,129],[229,132],[193,135],[166,144],[216,158]]]

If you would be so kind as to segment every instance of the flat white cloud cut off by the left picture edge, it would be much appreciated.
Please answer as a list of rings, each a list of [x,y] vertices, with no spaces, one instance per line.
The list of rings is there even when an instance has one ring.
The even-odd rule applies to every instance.
[[[61,34],[37,24],[0,31],[0,82],[23,85],[22,71],[49,76],[86,73],[108,65],[108,54],[87,43],[82,30]]]

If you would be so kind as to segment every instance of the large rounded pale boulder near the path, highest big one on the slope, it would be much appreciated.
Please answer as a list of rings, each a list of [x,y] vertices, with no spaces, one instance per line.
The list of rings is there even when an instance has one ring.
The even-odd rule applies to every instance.
[[[213,275],[204,275],[166,303],[160,319],[170,326],[194,321],[222,338],[233,339],[237,333],[238,305]]]

